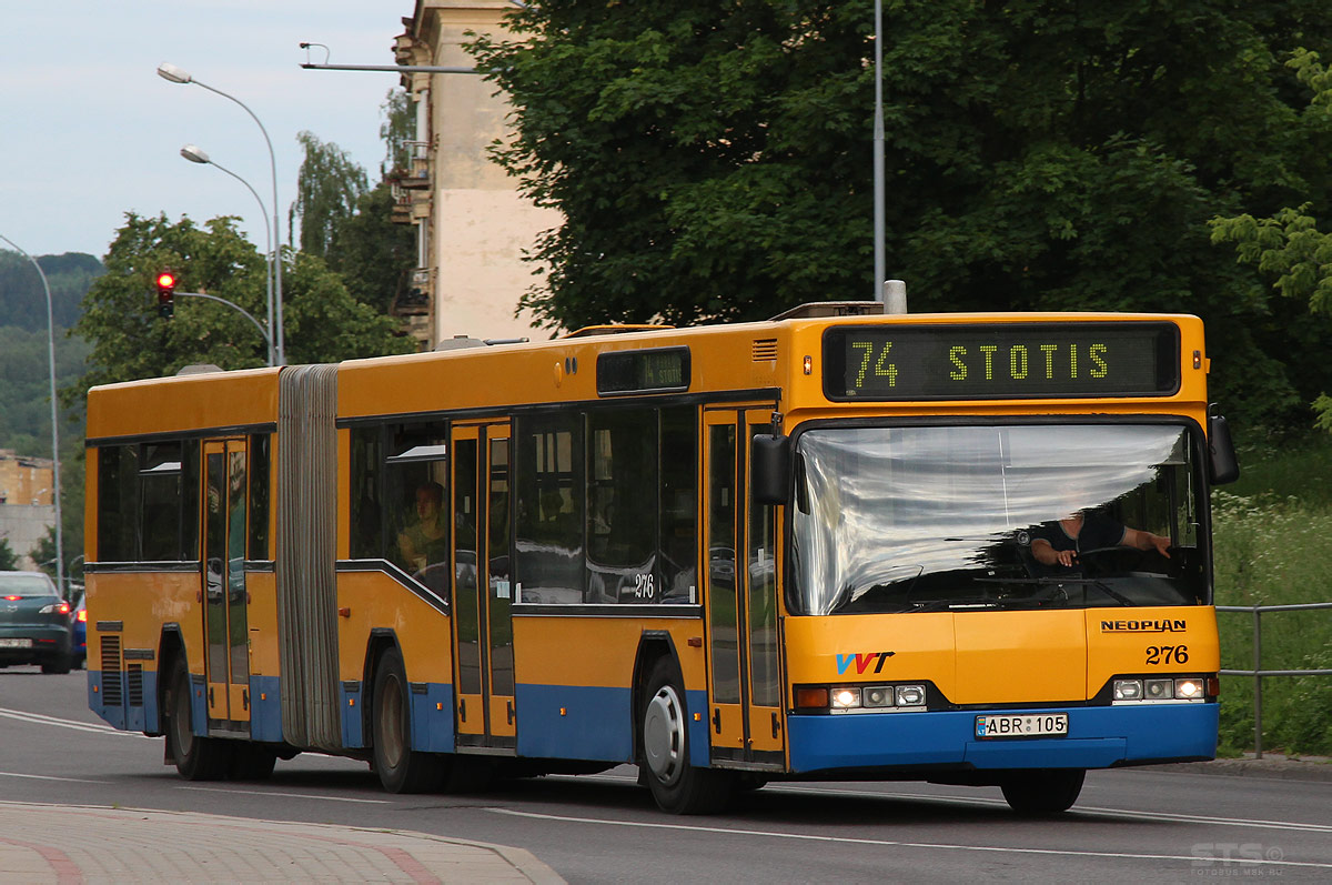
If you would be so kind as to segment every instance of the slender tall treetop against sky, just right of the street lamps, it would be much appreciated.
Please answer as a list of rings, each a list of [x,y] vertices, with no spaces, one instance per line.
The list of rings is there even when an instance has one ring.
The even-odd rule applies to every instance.
[[[300,132],[296,140],[305,149],[305,159],[296,176],[296,203],[288,227],[301,227],[301,252],[326,257],[338,221],[350,217],[356,204],[369,189],[365,169],[352,156],[332,143],[320,141],[312,132]]]

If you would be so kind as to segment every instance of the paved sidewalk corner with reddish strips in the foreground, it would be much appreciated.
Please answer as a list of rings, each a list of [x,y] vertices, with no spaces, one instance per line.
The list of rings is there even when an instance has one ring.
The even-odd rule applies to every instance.
[[[0,882],[539,882],[530,853],[402,830],[0,802]]]

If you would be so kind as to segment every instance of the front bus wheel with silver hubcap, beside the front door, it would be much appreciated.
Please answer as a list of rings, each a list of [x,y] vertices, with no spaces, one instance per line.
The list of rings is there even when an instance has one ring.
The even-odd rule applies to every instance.
[[[657,805],[671,814],[713,814],[731,797],[731,772],[689,764],[689,710],[671,660],[653,664],[639,710],[639,773]]]

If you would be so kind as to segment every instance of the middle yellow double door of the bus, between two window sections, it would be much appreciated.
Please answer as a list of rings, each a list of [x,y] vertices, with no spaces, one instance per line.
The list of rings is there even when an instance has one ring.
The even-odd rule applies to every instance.
[[[513,676],[507,421],[453,429],[454,689],[458,742],[511,748]]]

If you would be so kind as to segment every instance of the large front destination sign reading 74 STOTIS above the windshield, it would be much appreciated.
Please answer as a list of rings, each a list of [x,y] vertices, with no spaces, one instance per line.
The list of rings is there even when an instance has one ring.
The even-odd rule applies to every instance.
[[[1166,396],[1179,389],[1169,323],[835,327],[831,400]]]

